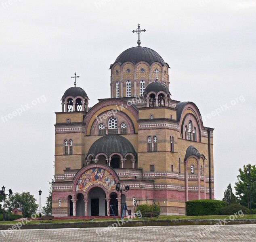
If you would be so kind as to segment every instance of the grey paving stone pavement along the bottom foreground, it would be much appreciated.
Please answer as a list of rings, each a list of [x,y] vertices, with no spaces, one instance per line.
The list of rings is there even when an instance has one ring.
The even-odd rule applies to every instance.
[[[104,229],[104,230],[103,230]],[[0,230],[1,242],[256,242],[256,225]],[[212,231],[210,230],[212,229]],[[7,234],[7,235],[6,235]]]

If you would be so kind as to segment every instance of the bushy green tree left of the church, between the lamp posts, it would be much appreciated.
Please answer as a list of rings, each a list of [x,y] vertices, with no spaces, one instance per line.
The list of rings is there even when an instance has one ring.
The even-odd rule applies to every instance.
[[[6,207],[8,211],[12,211],[14,208],[19,208],[22,211],[24,217],[31,217],[33,213],[36,213],[38,204],[36,204],[36,198],[29,192],[15,193],[10,195],[6,200]]]

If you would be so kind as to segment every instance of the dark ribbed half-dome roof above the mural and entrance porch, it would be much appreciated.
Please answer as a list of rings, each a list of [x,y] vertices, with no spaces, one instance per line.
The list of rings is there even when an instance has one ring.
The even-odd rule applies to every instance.
[[[128,152],[136,154],[129,140],[120,135],[106,135],[96,140],[90,147],[88,154],[94,156],[99,153],[105,153],[107,156],[113,152],[119,152],[125,156]]]

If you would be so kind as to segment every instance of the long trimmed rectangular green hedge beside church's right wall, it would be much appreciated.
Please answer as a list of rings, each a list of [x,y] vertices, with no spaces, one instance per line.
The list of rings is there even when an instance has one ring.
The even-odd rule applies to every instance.
[[[220,215],[226,202],[213,199],[191,200],[186,202],[187,216]]]

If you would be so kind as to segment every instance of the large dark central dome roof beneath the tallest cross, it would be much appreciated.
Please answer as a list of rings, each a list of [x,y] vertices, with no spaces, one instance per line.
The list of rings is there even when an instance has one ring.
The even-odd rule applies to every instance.
[[[155,52],[155,50],[141,46],[136,46],[125,50],[118,56],[115,63],[122,65],[126,61],[130,61],[134,64],[140,61],[145,61],[150,65],[153,62],[159,62],[162,65],[165,63],[164,59],[157,52]]]

